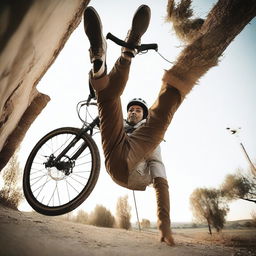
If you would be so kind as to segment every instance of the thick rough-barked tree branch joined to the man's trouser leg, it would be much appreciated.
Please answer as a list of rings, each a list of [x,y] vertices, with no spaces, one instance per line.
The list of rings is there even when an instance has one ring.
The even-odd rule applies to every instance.
[[[232,40],[256,15],[256,1],[219,0],[208,14],[200,33],[181,52],[163,81],[185,96],[196,82],[218,63]]]

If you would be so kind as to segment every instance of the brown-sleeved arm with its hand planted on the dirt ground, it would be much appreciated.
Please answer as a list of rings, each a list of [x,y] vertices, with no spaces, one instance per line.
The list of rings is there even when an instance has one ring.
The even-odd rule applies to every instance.
[[[171,232],[168,182],[164,178],[157,177],[154,178],[153,185],[156,190],[158,228],[161,232],[161,242],[173,246],[174,240]]]

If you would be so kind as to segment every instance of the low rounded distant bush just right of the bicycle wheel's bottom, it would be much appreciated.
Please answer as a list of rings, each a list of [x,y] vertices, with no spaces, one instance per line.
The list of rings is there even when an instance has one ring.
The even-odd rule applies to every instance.
[[[115,217],[103,205],[96,205],[88,222],[98,227],[112,228],[115,224]]]

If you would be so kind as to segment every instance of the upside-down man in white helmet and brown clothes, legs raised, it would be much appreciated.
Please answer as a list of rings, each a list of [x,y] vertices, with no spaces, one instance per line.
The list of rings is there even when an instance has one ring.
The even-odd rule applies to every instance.
[[[140,45],[150,15],[147,5],[136,10],[125,39],[127,43]],[[155,103],[148,108],[144,100],[134,98],[128,103],[128,117],[124,121],[120,96],[136,51],[123,47],[121,56],[107,73],[106,40],[100,17],[93,7],[84,11],[84,29],[90,42],[89,83],[97,98],[106,170],[117,184],[131,190],[145,190],[153,183],[160,241],[172,246],[169,187],[159,144],[188,88],[173,85],[172,76],[166,71]]]

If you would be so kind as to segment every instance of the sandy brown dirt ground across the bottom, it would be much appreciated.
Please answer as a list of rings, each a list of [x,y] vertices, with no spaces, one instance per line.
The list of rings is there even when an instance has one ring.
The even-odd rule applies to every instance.
[[[175,229],[174,238],[176,246],[169,247],[154,232],[98,228],[0,206],[1,256],[256,255],[255,230],[238,239],[225,233],[209,238],[205,230]]]

